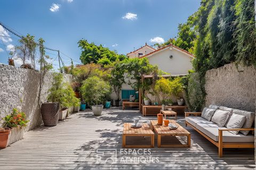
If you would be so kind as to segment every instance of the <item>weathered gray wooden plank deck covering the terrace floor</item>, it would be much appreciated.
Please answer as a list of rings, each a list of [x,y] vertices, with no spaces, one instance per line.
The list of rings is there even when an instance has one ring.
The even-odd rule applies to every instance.
[[[253,149],[224,149],[223,158],[218,148],[192,128],[190,148],[150,148],[151,155],[121,155],[124,122],[133,118],[154,120],[155,116],[143,117],[139,111],[122,108],[105,109],[102,116],[92,112],[71,115],[57,126],[41,126],[25,133],[25,138],[0,150],[0,169],[254,169]],[[184,117],[177,117],[184,126]],[[132,140],[134,141],[134,139]],[[155,143],[157,143],[155,135]],[[102,150],[114,163],[97,162]],[[110,149],[110,150],[107,150]],[[138,151],[138,148],[136,149]],[[115,154],[114,154],[115,156]],[[129,158],[127,162],[122,158]],[[136,162],[135,158],[158,158],[159,163]],[[104,157],[102,156],[102,159]],[[129,161],[132,159],[132,162]],[[98,159],[99,160],[99,159]],[[151,161],[147,159],[146,161]]]

